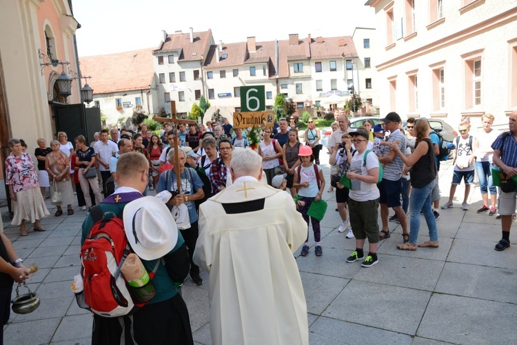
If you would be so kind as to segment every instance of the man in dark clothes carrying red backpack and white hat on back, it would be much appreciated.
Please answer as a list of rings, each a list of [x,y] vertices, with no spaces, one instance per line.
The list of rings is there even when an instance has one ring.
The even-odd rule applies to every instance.
[[[116,164],[116,181],[119,188],[99,205],[99,220],[104,223],[106,233],[108,230],[112,234],[115,234],[116,230],[124,231],[117,219],[123,216],[125,206],[134,200],[138,202],[138,199],[143,197],[142,193],[148,182],[148,170],[149,162],[139,152],[128,152],[119,157]],[[152,206],[150,202],[142,203],[134,210],[134,214],[130,215],[131,221],[123,222],[125,234],[130,236],[122,237],[130,244],[130,252],[139,256],[143,266],[150,273],[149,276],[152,276],[151,282],[156,295],[141,308],[133,308],[128,315],[107,317],[101,316],[101,313],[94,313],[92,344],[193,344],[187,306],[176,288],[188,273],[187,249],[181,233],[172,225],[174,221],[152,220],[158,217],[158,214],[163,214],[156,212],[156,209],[157,207]],[[93,219],[99,214],[97,210],[92,208],[92,212],[83,222],[81,252],[88,242],[102,239],[88,238],[92,228],[100,227],[99,223],[96,224],[94,221],[97,219]],[[112,219],[109,219],[110,217]],[[128,215],[124,215],[125,217]],[[176,236],[171,238],[170,233],[176,233],[175,243]],[[157,238],[160,240],[156,240]],[[111,243],[114,247],[119,244],[115,241]],[[83,267],[86,266],[85,260],[87,264],[94,264],[97,256],[99,255],[82,255]],[[110,270],[108,274],[112,274]],[[112,280],[116,281],[115,278]],[[92,301],[96,298],[105,297],[104,293],[107,290],[110,291],[110,284],[92,288],[95,286],[94,279],[89,280],[88,277],[83,277],[83,282],[85,295],[89,295],[86,296],[86,301],[90,300],[90,304],[94,304]],[[120,292],[118,288],[117,292]],[[120,299],[119,294],[116,295]]]

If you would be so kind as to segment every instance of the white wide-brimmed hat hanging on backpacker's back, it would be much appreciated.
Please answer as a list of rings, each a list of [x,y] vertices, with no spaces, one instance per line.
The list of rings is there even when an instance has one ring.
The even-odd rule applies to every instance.
[[[178,227],[170,210],[156,197],[142,197],[124,207],[125,235],[134,253],[154,260],[169,253],[178,242]]]

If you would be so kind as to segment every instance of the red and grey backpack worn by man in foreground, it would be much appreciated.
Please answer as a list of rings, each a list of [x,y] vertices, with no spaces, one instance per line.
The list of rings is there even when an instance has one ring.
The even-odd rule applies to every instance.
[[[149,302],[154,294],[144,302],[121,273],[125,258],[132,253],[121,215],[102,213],[99,205],[92,208],[90,215],[94,226],[81,246],[84,302],[93,313],[103,317],[131,315]],[[151,284],[160,262],[158,260],[149,273]]]

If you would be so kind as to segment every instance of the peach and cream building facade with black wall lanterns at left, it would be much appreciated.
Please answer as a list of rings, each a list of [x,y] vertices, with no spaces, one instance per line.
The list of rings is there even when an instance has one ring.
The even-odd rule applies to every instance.
[[[70,1],[10,0],[0,11],[0,141],[2,165],[11,137],[23,138],[29,152],[43,137],[55,138],[54,110],[81,103],[80,79],[72,81],[71,95],[61,96],[61,72],[79,73]],[[48,63],[48,66],[41,65]],[[52,64],[53,63],[53,64]],[[68,64],[61,64],[68,63]],[[75,72],[75,73],[74,73]]]

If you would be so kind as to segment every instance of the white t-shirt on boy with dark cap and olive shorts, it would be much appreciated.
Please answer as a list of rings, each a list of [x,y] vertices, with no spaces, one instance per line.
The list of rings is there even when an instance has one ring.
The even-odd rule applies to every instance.
[[[366,150],[359,154],[358,152],[352,157],[350,161],[350,172],[355,172],[358,175],[367,176],[368,170],[378,168],[378,159],[374,152],[369,152],[366,156],[366,166],[364,165],[364,155]],[[355,201],[375,200],[380,197],[377,184],[368,184],[367,182],[352,179],[352,189],[349,197]]]

